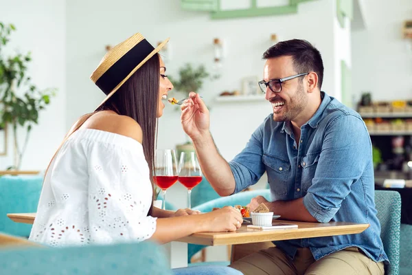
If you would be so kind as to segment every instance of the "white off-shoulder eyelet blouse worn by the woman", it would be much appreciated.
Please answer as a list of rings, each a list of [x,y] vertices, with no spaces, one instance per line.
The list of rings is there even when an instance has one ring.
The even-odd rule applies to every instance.
[[[80,129],[45,175],[30,240],[55,247],[144,241],[156,230],[152,192],[139,142]]]

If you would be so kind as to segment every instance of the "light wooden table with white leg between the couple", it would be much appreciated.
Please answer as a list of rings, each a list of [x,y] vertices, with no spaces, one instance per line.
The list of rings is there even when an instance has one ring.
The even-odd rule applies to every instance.
[[[33,223],[36,213],[7,214],[16,223]],[[187,243],[199,245],[235,245],[241,243],[259,243],[263,241],[282,241],[290,239],[314,238],[317,236],[335,236],[358,234],[369,227],[367,223],[307,223],[304,221],[275,220],[273,223],[297,224],[297,229],[253,230],[242,225],[236,232],[203,232],[186,236],[165,244],[170,267],[187,267]]]

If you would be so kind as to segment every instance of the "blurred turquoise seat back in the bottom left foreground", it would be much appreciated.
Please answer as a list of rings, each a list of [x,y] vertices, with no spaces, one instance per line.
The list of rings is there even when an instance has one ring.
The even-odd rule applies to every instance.
[[[0,251],[2,275],[172,274],[161,246],[145,241],[73,248]]]

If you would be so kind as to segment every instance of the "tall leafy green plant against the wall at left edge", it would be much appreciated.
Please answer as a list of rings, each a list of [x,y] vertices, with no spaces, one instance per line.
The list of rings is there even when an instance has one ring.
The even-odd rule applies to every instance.
[[[8,170],[19,170],[32,126],[38,124],[38,113],[50,103],[50,98],[56,91],[39,90],[32,83],[27,75],[30,52],[12,56],[3,54],[14,30],[14,25],[0,22],[0,128],[11,126],[14,141],[14,164]],[[23,144],[20,144],[19,128],[23,128],[19,134],[25,135]]]

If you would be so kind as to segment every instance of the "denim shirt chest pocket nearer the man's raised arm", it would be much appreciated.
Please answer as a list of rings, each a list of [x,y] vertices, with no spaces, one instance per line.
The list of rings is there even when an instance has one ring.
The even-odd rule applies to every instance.
[[[269,185],[276,195],[284,196],[288,192],[290,162],[274,155],[264,154],[262,161],[266,166]]]

